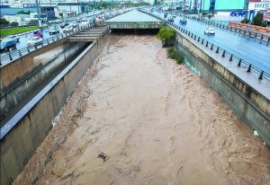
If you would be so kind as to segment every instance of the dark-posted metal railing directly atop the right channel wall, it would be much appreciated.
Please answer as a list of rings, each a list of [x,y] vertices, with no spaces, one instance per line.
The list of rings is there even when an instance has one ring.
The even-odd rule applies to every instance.
[[[228,50],[225,50],[223,48],[220,48],[219,46],[213,44],[211,41],[205,40],[202,37],[194,34],[191,31],[187,31],[186,29],[180,27],[179,25],[176,25],[174,22],[167,22],[170,26],[174,27],[176,30],[181,31],[188,37],[190,37],[193,40],[197,40],[198,43],[201,43],[206,48],[210,48],[213,52],[215,52],[217,55],[220,55],[221,57],[228,58],[231,63],[235,63],[238,67],[243,67],[247,70],[247,73],[254,72],[258,75],[258,79],[262,80],[263,77],[270,80],[270,74],[265,72],[264,70],[260,69],[259,67],[247,62],[245,59],[238,57],[232,53],[230,53]]]

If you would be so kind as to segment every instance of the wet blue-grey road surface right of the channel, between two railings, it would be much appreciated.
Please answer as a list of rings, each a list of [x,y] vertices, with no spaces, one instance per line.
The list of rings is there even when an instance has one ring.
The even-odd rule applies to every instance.
[[[162,18],[164,17],[163,13],[155,12],[154,14]],[[247,62],[270,74],[270,46],[267,46],[265,42],[216,27],[213,27],[216,31],[215,36],[205,35],[204,30],[209,27],[207,24],[187,19],[187,24],[181,25],[179,20],[180,17],[176,16],[175,24],[188,31],[192,31],[201,38],[211,41],[213,44],[220,46],[220,48],[228,50],[230,53],[245,59]]]

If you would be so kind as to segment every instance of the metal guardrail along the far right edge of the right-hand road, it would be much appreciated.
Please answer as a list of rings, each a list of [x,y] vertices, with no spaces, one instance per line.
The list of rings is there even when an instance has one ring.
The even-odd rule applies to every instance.
[[[238,34],[242,34],[242,35],[245,35],[247,37],[250,37],[252,39],[264,41],[264,42],[267,43],[267,46],[269,45],[269,42],[270,42],[270,35],[264,34],[262,32],[250,31],[248,29],[243,29],[243,28],[237,28],[237,27],[225,25],[225,24],[222,24],[222,23],[219,23],[219,22],[206,20],[206,19],[203,19],[203,18],[194,17],[194,16],[190,16],[190,15],[180,14],[180,16],[183,16],[184,18],[195,20],[195,21],[198,21],[198,22],[206,23],[206,24],[209,24],[211,26],[215,26],[215,27],[218,27],[220,29],[227,30],[227,31],[233,31],[233,32],[236,32]]]

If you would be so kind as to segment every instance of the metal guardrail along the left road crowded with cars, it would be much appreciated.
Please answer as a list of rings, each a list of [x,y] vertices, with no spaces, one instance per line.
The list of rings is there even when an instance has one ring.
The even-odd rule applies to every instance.
[[[73,30],[73,31],[67,32],[67,33],[59,33],[57,35],[49,37],[46,40],[42,40],[42,42],[39,45],[27,46],[24,48],[12,50],[12,51],[6,53],[5,55],[1,56],[0,67],[3,65],[4,62],[14,61],[15,59],[18,59],[19,57],[23,57],[23,56],[35,51],[38,48],[42,48],[43,46],[47,46],[47,45],[51,44],[52,42],[66,38],[67,36],[73,35],[76,32],[84,31],[85,29],[89,29],[93,26],[94,26],[94,23],[81,25],[79,27],[76,27],[76,31]]]

